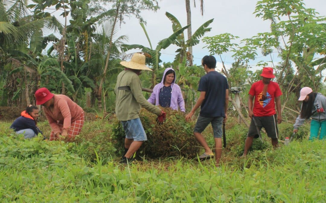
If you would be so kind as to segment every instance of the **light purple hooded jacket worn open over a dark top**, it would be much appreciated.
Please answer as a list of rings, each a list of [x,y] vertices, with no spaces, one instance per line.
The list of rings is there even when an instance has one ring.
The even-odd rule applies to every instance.
[[[160,89],[164,85],[163,81],[164,81],[164,78],[165,78],[165,74],[166,74],[166,72],[168,70],[173,70],[173,69],[172,68],[167,68],[167,69],[164,70],[162,82],[155,85],[155,87],[153,89],[153,93],[151,94],[151,96],[147,100],[149,103],[155,104],[156,106],[159,105],[158,96],[160,94]],[[174,71],[174,73],[175,73],[175,71]],[[174,83],[174,81],[175,81],[175,78],[174,78],[174,80],[172,81],[172,84],[171,84],[172,91],[171,91],[170,108],[172,108],[173,110],[178,110],[178,107],[179,107],[181,111],[185,112],[185,101],[183,99],[181,89],[180,89],[179,85]]]

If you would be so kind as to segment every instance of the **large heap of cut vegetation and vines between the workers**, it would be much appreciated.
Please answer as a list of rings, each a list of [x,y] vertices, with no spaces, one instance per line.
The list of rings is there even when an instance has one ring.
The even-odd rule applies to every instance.
[[[167,115],[162,125],[157,124],[155,114],[141,109],[139,116],[148,140],[142,144],[136,154],[150,158],[196,157],[200,147],[193,135],[195,122],[186,122],[184,113],[180,111],[162,109]],[[124,150],[125,137],[121,122],[115,119],[111,139],[114,147],[121,154]]]

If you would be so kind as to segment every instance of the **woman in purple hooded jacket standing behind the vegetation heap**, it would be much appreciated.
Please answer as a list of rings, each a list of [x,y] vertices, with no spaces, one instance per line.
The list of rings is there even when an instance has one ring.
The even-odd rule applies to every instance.
[[[162,82],[155,85],[147,101],[161,107],[170,107],[173,110],[178,110],[179,107],[182,112],[185,112],[185,101],[181,89],[174,81],[175,71],[172,68],[165,69]]]

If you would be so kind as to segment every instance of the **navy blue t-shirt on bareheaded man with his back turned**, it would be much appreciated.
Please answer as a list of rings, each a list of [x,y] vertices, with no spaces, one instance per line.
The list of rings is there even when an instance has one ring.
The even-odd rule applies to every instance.
[[[229,89],[228,81],[221,73],[208,72],[200,78],[198,91],[206,92],[200,106],[200,116],[224,117],[225,93]]]

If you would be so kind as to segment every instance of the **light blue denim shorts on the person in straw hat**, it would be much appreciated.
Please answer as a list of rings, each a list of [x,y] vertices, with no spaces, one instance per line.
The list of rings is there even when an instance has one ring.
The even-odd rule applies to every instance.
[[[121,121],[122,127],[126,132],[127,139],[134,139],[135,141],[146,141],[147,136],[142,127],[140,118],[128,121]]]

